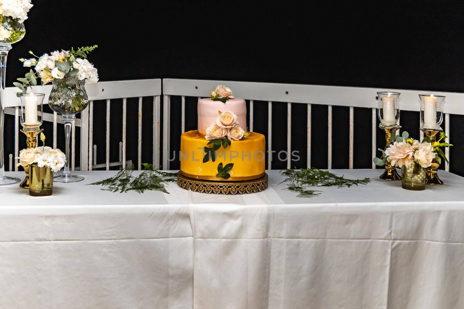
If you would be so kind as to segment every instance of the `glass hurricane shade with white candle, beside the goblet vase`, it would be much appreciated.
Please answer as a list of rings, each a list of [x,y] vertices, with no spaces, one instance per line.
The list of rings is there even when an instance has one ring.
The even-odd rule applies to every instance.
[[[42,125],[44,94],[21,95],[21,126],[23,131],[37,131]]]

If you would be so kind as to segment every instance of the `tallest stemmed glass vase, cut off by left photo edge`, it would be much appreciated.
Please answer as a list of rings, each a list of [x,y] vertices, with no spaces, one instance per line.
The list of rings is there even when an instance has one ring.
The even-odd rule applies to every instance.
[[[0,186],[20,182],[19,178],[5,176],[5,155],[3,153],[5,101],[3,100],[3,94],[5,92],[6,57],[8,56],[8,51],[11,50],[11,44],[19,42],[25,33],[24,24],[19,23],[18,19],[0,15]]]

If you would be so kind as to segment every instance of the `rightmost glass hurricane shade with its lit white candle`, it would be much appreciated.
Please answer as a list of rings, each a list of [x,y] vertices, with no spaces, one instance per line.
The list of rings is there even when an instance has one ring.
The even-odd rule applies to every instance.
[[[444,95],[419,95],[420,98],[420,128],[441,130],[443,122]]]

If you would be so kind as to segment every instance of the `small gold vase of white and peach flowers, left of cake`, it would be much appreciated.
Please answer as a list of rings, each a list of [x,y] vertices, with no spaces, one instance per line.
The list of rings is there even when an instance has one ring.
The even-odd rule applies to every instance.
[[[59,149],[45,146],[45,135],[40,133],[42,147],[19,151],[18,166],[29,167],[29,194],[32,196],[52,195],[53,173],[61,170],[66,163],[64,153]]]

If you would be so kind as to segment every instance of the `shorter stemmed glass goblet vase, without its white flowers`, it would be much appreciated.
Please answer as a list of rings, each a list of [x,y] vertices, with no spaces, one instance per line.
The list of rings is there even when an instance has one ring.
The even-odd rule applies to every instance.
[[[64,122],[66,163],[63,175],[54,178],[57,183],[75,183],[84,180],[84,177],[71,175],[69,171],[70,150],[69,140],[71,137],[71,126],[76,120],[76,114],[82,112],[89,105],[89,97],[85,91],[85,80],[78,78],[63,78],[53,80],[52,92],[48,99],[48,105],[53,111],[60,114]]]

